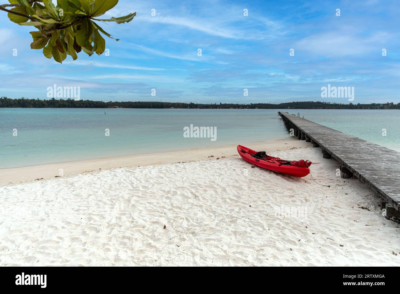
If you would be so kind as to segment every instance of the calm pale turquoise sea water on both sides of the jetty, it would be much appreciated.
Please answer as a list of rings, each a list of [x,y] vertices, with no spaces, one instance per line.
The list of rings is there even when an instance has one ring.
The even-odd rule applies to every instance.
[[[400,110],[284,111],[400,151]],[[0,108],[0,168],[289,138],[277,112]],[[190,124],[216,127],[216,140],[184,138]]]

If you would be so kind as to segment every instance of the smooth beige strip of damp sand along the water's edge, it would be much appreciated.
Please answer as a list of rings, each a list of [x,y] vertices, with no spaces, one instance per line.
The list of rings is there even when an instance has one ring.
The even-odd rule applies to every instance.
[[[248,146],[254,150],[265,150],[267,153],[278,150],[280,151],[310,146],[310,143],[308,142],[295,139],[277,139],[258,143],[240,142],[240,144]],[[99,170],[110,170],[113,168],[201,161],[222,157],[227,158],[238,155],[236,146],[237,144],[220,147],[200,147],[150,154],[136,154],[128,156],[76,160],[55,164],[41,164],[18,168],[5,168],[0,169],[0,186],[16,185],[35,181],[36,179],[49,180],[63,178],[67,176],[74,176],[76,174]],[[62,169],[63,176],[60,176],[60,169]]]

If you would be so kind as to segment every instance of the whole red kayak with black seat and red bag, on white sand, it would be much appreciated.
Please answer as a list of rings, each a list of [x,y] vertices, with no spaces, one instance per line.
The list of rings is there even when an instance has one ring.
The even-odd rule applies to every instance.
[[[308,160],[288,161],[278,157],[269,156],[268,154],[265,154],[265,152],[254,151],[241,145],[238,145],[238,153],[247,162],[266,170],[279,172],[280,174],[304,177],[310,173],[308,166],[311,165],[311,162]]]

